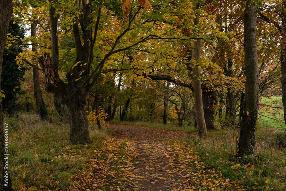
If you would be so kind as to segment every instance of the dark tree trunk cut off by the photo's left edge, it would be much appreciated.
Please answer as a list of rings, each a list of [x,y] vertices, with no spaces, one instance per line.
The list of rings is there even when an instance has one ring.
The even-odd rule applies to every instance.
[[[7,39],[7,33],[9,29],[9,23],[11,20],[11,15],[13,11],[13,5],[12,0],[1,0],[0,1],[0,78],[2,74],[2,64],[3,64],[3,54],[4,54],[4,48],[6,45],[6,39]],[[0,93],[1,93],[1,84],[0,84]],[[9,155],[4,155],[4,118],[3,118],[3,107],[2,104],[0,104],[0,190],[12,190],[11,189],[11,179],[8,172],[10,170],[4,169],[5,164],[5,157]],[[9,140],[8,140],[9,141]],[[9,142],[8,142],[9,144]],[[7,172],[7,174],[6,174]],[[8,175],[8,177],[6,177]]]

